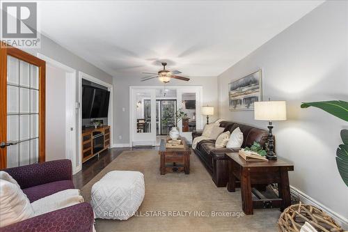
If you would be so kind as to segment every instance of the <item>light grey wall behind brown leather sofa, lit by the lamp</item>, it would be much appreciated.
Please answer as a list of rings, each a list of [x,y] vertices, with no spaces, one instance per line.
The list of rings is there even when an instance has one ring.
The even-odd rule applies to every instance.
[[[267,129],[253,111],[228,110],[228,83],[263,69],[263,99],[286,100],[288,120],[274,123],[276,149],[294,162],[290,184],[348,218],[348,187],[335,163],[342,121],[301,102],[348,100],[348,2],[327,1],[218,77],[219,114]],[[348,222],[347,222],[348,225]]]

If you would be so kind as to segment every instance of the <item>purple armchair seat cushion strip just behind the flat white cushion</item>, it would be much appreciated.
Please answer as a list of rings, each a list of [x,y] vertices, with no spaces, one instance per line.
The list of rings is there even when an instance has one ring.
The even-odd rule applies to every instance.
[[[37,201],[38,199],[49,196],[59,191],[74,189],[72,180],[58,180],[52,183],[43,185],[36,185],[34,187],[28,187],[23,190],[24,194],[28,196],[29,201]]]

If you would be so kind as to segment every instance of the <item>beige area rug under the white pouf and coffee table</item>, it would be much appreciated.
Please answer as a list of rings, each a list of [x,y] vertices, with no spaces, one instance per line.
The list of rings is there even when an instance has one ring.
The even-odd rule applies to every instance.
[[[97,232],[104,231],[277,231],[278,209],[254,210],[244,215],[240,190],[228,192],[214,185],[203,164],[191,154],[191,171],[159,174],[156,150],[124,151],[82,189],[90,201],[95,182],[109,171],[141,171],[145,176],[145,199],[127,221],[96,219]]]

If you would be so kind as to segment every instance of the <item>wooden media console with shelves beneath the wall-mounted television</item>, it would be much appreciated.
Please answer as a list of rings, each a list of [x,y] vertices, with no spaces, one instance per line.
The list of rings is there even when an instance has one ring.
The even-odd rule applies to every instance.
[[[98,146],[99,149],[96,149],[97,147],[95,147],[95,144],[93,144],[93,134],[100,134],[100,137],[103,137],[104,144],[102,144],[102,147]],[[110,148],[109,125],[97,128],[88,127],[85,130],[82,130],[81,157],[83,163],[89,160],[91,157],[99,155],[108,148]],[[95,152],[93,152],[93,150],[95,150]]]

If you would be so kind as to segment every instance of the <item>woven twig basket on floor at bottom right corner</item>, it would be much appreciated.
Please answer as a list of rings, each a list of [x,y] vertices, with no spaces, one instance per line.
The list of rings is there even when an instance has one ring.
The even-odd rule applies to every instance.
[[[314,206],[298,203],[289,206],[278,219],[278,231],[299,232],[305,222],[311,224],[319,232],[342,232],[332,217]]]

